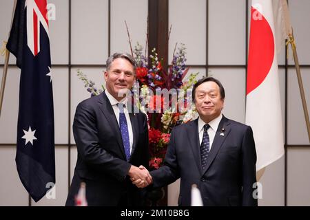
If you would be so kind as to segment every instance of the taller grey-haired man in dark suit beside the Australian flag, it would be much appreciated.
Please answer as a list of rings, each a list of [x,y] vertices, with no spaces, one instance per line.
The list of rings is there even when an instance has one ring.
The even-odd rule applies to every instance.
[[[106,90],[76,107],[73,133],[78,158],[66,206],[74,206],[81,182],[89,206],[142,206],[144,190],[130,181],[150,183],[147,118],[127,109],[136,65],[129,54],[113,54],[104,73]]]

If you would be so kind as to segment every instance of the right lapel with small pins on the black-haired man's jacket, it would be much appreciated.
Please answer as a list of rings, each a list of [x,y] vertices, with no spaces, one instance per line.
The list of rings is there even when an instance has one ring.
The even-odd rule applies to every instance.
[[[211,151],[209,156],[207,157],[207,164],[205,170],[203,170],[203,173],[205,173],[211,163],[214,161],[216,155],[218,154],[218,151],[220,150],[220,147],[223,145],[226,137],[229,135],[229,132],[231,131],[231,128],[229,126],[230,122],[227,120],[227,118],[224,117],[222,120],[220,120],[220,124],[218,124],[218,130],[216,131],[216,135],[214,137],[213,144],[211,146]],[[223,131],[224,129],[224,131]]]

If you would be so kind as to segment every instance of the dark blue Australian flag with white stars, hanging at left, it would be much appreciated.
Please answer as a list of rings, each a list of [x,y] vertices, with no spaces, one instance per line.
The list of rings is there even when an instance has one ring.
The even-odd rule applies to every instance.
[[[55,183],[54,107],[46,0],[18,0],[7,49],[21,69],[17,171],[34,201]]]

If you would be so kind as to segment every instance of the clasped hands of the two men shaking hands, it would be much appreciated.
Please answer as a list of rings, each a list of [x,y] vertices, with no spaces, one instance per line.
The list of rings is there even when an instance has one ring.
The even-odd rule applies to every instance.
[[[132,165],[128,171],[128,175],[130,176],[132,184],[136,185],[138,188],[145,188],[153,182],[149,170],[142,165],[139,167]]]

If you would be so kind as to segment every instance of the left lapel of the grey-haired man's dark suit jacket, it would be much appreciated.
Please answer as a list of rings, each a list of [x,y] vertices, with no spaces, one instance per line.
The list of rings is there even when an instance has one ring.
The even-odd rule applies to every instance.
[[[102,96],[102,99],[99,100],[99,108],[101,109],[103,115],[105,115],[105,118],[109,122],[111,129],[116,136],[116,141],[117,141],[118,146],[119,146],[121,153],[123,155],[123,159],[126,159],[125,149],[123,146],[123,140],[122,140],[122,136],[121,136],[121,131],[119,129],[118,122],[116,120],[116,116],[114,114],[112,105],[111,105],[109,99],[107,98],[107,95],[105,95],[104,92],[102,93],[101,96]]]

